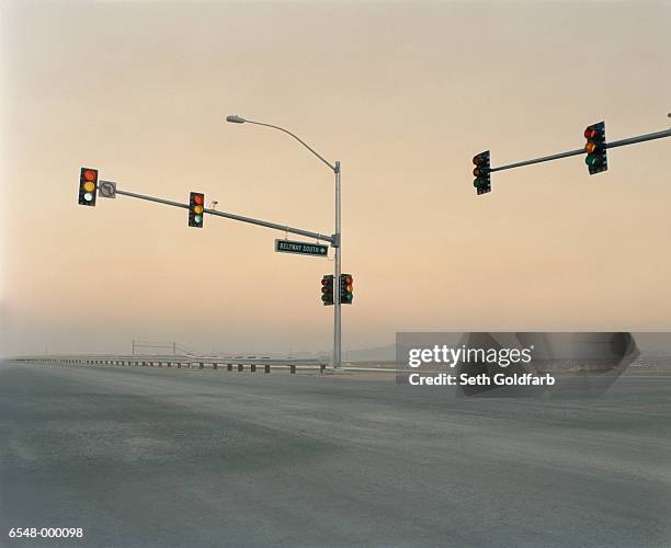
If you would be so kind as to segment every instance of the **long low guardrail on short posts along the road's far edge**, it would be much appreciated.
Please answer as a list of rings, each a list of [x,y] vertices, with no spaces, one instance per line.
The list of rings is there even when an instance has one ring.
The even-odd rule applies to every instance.
[[[105,365],[120,367],[174,367],[177,369],[214,369],[226,372],[249,372],[270,374],[273,368],[288,369],[293,375],[297,370],[327,369],[326,361],[316,359],[273,359],[273,358],[200,358],[193,356],[23,356],[12,358],[13,362],[48,364],[48,365]]]

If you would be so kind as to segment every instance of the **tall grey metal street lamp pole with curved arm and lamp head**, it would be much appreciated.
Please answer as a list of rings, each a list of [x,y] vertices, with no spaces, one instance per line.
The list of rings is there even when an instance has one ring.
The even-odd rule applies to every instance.
[[[333,242],[331,247],[336,250],[336,267],[333,275],[333,368],[340,369],[341,367],[341,345],[342,345],[342,335],[341,335],[341,304],[340,304],[340,274],[341,274],[341,260],[342,260],[342,237],[341,237],[341,224],[340,224],[340,162],[331,163],[326,160],[319,152],[317,152],[312,147],[310,147],[307,142],[300,139],[298,136],[294,135],[292,132],[284,129],[280,126],[273,126],[271,124],[263,124],[262,122],[254,122],[251,119],[246,119],[242,116],[238,116],[237,114],[230,114],[226,116],[226,122],[230,122],[231,124],[255,124],[258,126],[272,127],[273,129],[278,129],[280,132],[284,132],[287,135],[291,135],[294,139],[296,139],[300,145],[307,148],[312,155],[319,158],[326,165],[328,165],[329,170],[331,170],[336,175],[336,233],[333,235]]]

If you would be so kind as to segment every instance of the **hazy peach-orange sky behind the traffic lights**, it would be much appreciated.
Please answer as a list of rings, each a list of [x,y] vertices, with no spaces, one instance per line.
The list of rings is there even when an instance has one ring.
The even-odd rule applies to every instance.
[[[671,330],[671,138],[492,175],[671,121],[671,2],[1,2],[3,355],[328,350],[323,259],[120,189],[333,230],[344,347],[421,330]]]

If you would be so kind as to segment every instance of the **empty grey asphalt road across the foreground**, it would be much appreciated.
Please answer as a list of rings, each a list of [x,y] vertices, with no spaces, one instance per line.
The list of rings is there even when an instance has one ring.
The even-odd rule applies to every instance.
[[[593,399],[444,390],[0,364],[0,545],[671,546],[671,377]]]

